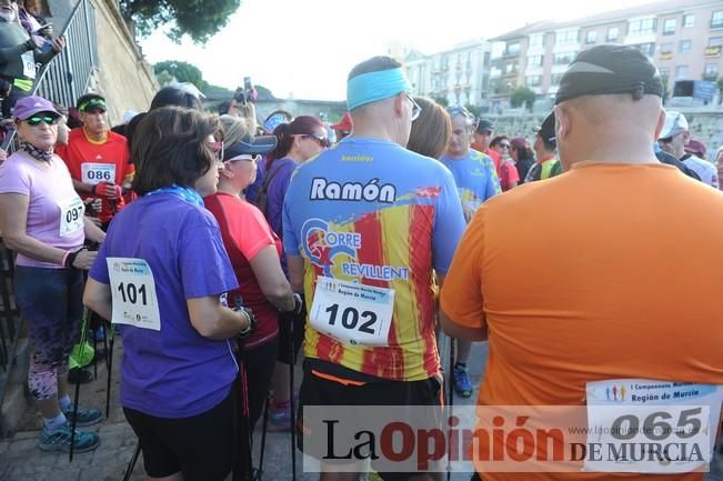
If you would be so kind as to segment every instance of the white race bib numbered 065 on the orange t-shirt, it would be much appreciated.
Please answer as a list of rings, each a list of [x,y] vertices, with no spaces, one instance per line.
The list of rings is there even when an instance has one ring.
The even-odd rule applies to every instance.
[[[584,470],[673,474],[710,462],[722,387],[613,379],[589,382],[586,398]],[[590,447],[598,447],[595,454]]]

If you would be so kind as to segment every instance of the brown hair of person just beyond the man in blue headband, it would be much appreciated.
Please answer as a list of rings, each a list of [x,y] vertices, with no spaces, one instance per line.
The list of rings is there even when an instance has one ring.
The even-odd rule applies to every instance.
[[[414,97],[414,101],[422,108],[422,112],[412,122],[406,148],[412,152],[439,159],[452,136],[450,114],[432,99]]]

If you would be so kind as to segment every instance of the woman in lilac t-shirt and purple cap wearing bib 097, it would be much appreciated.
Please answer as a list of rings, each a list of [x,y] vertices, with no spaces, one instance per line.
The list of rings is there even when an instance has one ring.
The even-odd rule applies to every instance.
[[[42,413],[38,447],[70,449],[73,407],[68,395],[68,355],[82,317],[82,270],[97,252],[83,241],[104,233],[83,216],[63,161],[53,154],[60,113],[41,97],[26,97],[14,108],[20,149],[0,166],[0,231],[18,253],[16,301],[28,321],[32,345],[28,385]],[[98,409],[78,409],[76,425],[100,422]],[[77,431],[74,451],[91,451],[99,438]]]

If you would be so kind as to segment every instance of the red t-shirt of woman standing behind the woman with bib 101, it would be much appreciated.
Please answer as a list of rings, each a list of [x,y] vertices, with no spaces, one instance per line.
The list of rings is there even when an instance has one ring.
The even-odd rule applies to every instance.
[[[249,259],[269,245],[275,245],[281,259],[281,240],[273,233],[261,211],[245,200],[219,192],[204,198],[203,202],[219,221],[221,238],[239,281],[239,289],[229,292],[229,304],[233,304],[235,297],[241,295],[243,305],[250,308],[259,321],[245,345],[253,348],[263,344],[279,334],[279,311],[261,291]]]

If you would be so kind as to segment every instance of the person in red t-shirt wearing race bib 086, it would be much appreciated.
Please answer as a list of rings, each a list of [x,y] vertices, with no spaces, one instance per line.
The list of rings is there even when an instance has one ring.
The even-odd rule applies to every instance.
[[[58,144],[56,153],[68,164],[73,187],[83,200],[102,199],[98,219],[107,229],[125,206],[122,189],[130,189],[134,169],[125,138],[108,127],[106,99],[87,93],[78,99],[77,109],[83,127],[73,129],[68,144]]]

